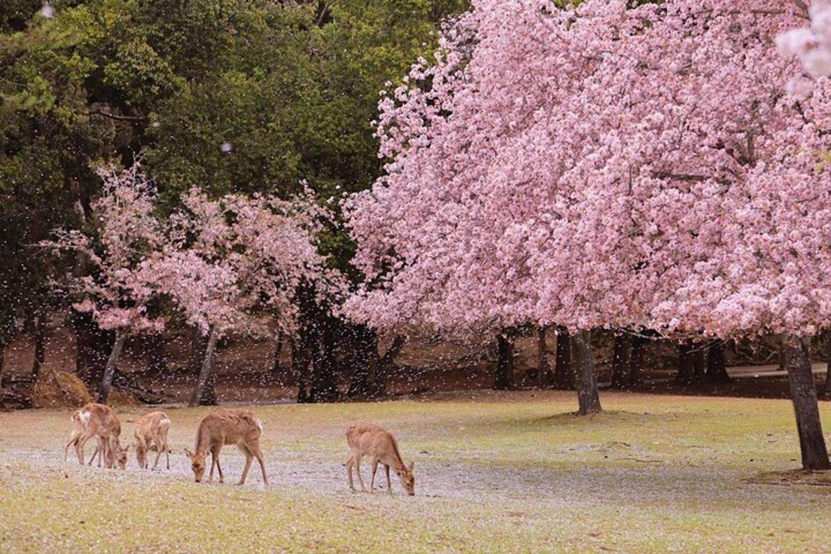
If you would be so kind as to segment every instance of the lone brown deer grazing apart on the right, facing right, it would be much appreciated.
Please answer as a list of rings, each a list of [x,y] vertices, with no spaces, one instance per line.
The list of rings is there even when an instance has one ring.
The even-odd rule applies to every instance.
[[[353,493],[355,492],[355,485],[352,483],[353,467],[355,473],[358,474],[361,491],[366,493],[366,487],[363,478],[361,478],[361,458],[367,456],[372,461],[370,492],[375,489],[375,473],[380,462],[386,470],[386,488],[390,491],[390,494],[392,494],[390,467],[395,470],[398,480],[401,481],[401,487],[404,488],[406,493],[410,496],[416,494],[416,478],[413,477],[413,466],[415,464],[411,462],[409,466],[404,465],[401,453],[398,452],[396,438],[389,431],[371,424],[352,425],[347,430],[347,443],[349,449],[352,450],[352,456],[347,459],[347,476],[349,477],[349,488],[352,489]]]

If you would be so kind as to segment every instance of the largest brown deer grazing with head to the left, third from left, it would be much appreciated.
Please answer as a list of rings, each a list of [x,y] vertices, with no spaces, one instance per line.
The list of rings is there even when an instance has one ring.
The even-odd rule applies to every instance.
[[[254,418],[250,409],[218,409],[206,415],[199,422],[196,432],[196,447],[194,452],[184,449],[190,458],[191,468],[194,470],[196,483],[202,481],[205,472],[205,457],[210,453],[211,464],[208,483],[214,479],[214,466],[219,470],[219,483],[223,483],[222,467],[219,465],[219,450],[226,444],[235,444],[245,454],[245,469],[238,484],[245,483],[251,461],[257,458],[260,469],[263,470],[263,483],[268,487],[268,478],[265,475],[263,452],[259,448],[260,435],[263,434],[263,423]]]

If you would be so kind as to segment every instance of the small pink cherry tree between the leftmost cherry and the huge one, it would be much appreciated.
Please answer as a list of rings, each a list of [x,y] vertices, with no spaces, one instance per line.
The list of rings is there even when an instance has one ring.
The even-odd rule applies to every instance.
[[[230,331],[292,336],[299,288],[337,297],[344,281],[317,250],[330,214],[308,192],[291,201],[242,194],[213,200],[191,189],[183,204],[170,218],[170,243],[155,269],[162,290],[208,336],[191,399],[199,404],[218,339]]]

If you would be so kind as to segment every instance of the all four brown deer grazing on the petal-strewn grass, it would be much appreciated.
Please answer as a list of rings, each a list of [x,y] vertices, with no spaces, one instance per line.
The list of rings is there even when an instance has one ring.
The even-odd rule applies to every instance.
[[[121,446],[121,424],[114,412],[106,404],[86,404],[71,415],[72,429],[66,440],[63,458],[69,457],[70,447],[74,447],[78,463],[84,463],[84,445],[90,439],[96,439],[96,449],[89,459],[89,465],[98,458],[98,467],[125,469],[127,466],[127,451],[130,444]],[[135,459],[139,467],[146,469],[147,453],[155,449],[153,469],[159,466],[159,458],[165,454],[166,467],[170,469],[170,445],[168,444],[168,430],[170,418],[160,411],[150,412],[135,422],[133,436],[135,438]],[[214,479],[214,469],[219,473],[219,483],[223,483],[222,466],[219,465],[219,451],[224,446],[234,445],[245,454],[245,468],[238,484],[245,483],[248,470],[253,459],[257,459],[263,472],[263,483],[268,487],[268,478],[265,473],[263,451],[260,449],[259,439],[263,434],[263,422],[254,417],[249,409],[217,409],[204,416],[199,422],[196,431],[194,450],[184,449],[190,459],[190,467],[194,472],[194,479],[201,483],[204,478],[206,458],[210,454],[210,472],[208,482]],[[401,487],[407,494],[416,493],[416,481],[413,477],[413,463],[406,465],[398,451],[395,437],[386,429],[372,424],[356,424],[347,429],[347,444],[350,456],[347,459],[347,482],[352,492],[356,492],[352,482],[352,470],[358,476],[361,491],[366,493],[366,486],[361,478],[361,458],[369,458],[372,468],[370,492],[375,489],[375,475],[378,464],[384,466],[386,473],[386,487],[392,493],[390,468],[396,472]]]

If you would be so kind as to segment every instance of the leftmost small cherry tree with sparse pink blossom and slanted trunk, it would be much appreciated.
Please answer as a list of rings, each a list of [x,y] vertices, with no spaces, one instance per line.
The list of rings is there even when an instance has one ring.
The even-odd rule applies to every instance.
[[[165,233],[155,218],[155,193],[135,164],[130,169],[106,167],[101,197],[92,203],[95,227],[88,233],[58,229],[43,243],[57,251],[81,253],[90,274],[67,276],[57,287],[76,297],[76,311],[88,312],[102,330],[116,337],[106,362],[98,401],[106,403],[125,340],[142,332],[160,332],[165,319],[148,311],[157,295],[155,265]]]

